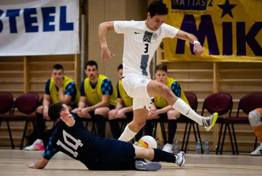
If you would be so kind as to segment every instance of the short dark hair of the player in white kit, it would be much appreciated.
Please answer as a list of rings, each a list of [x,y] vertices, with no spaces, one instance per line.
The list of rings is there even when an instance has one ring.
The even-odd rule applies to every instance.
[[[167,15],[168,14],[168,8],[166,7],[166,4],[162,3],[161,1],[153,1],[148,6],[148,11],[150,13],[151,18],[155,15]]]

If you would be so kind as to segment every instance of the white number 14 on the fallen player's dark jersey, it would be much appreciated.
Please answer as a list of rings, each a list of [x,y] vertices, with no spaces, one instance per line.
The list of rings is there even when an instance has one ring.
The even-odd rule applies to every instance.
[[[68,141],[68,138],[70,138],[72,141],[74,141],[76,144],[71,143],[70,141]],[[73,149],[77,150],[78,147],[82,147],[83,143],[81,143],[81,140],[74,138],[73,136],[71,136],[69,133],[67,133],[66,131],[63,130],[63,141],[68,144],[70,147],[72,147]],[[66,146],[65,144],[63,144],[60,140],[58,140],[56,142],[56,144],[61,147],[63,147],[65,150],[67,150],[68,152],[72,153],[75,157],[77,157],[78,152],[77,151],[73,151],[71,148],[69,148],[68,146]]]

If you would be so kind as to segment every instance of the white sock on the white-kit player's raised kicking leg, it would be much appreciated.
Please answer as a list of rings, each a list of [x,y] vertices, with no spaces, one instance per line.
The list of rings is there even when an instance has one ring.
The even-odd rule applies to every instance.
[[[203,117],[195,113],[182,99],[178,98],[172,108],[198,124],[203,125]]]

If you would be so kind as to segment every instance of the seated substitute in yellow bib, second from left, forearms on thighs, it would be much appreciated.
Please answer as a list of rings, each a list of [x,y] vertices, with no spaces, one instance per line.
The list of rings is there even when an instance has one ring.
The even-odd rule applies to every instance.
[[[115,108],[116,90],[107,76],[99,74],[95,61],[87,62],[85,73],[87,78],[81,83],[78,108],[72,113],[80,118],[93,118],[98,136],[105,137],[105,118],[107,113]],[[87,107],[86,102],[88,102]]]

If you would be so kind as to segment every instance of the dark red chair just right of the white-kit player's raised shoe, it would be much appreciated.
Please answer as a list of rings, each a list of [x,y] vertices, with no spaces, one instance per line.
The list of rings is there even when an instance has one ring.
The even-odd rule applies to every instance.
[[[206,109],[206,110],[208,110],[208,112],[210,114],[217,112],[219,116],[222,116],[222,115],[229,113],[228,117],[231,117],[232,107],[233,107],[233,101],[232,101],[232,96],[230,94],[228,94],[228,93],[212,94],[212,95],[208,96],[204,101],[203,108],[202,108],[202,116],[204,114],[204,110]],[[217,123],[221,123],[221,127],[220,127],[220,131],[219,131],[219,138],[218,138],[216,154],[218,154],[218,151],[219,151],[221,134],[222,134],[222,131],[223,131],[223,125],[225,123],[224,118],[218,117]],[[225,127],[225,131],[226,131],[226,127]],[[229,130],[229,136],[230,136],[230,140],[231,140],[232,152],[233,152],[233,154],[235,154],[235,151],[234,151],[234,148],[233,148],[233,143],[232,143],[231,132],[230,132],[229,128],[228,128],[228,130]],[[225,135],[225,133],[224,133],[224,135]],[[224,138],[223,138],[223,141],[222,141],[222,148],[221,148],[220,154],[222,154],[223,144],[224,144],[223,142],[224,142]]]

